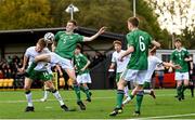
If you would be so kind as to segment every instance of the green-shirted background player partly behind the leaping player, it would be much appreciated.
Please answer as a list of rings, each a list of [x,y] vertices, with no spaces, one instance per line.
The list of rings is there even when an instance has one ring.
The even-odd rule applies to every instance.
[[[91,77],[88,66],[90,61],[81,53],[81,46],[77,45],[75,50],[75,67],[77,71],[77,82],[80,90],[86,93],[87,102],[91,102],[91,92],[89,91],[88,83],[91,83]]]

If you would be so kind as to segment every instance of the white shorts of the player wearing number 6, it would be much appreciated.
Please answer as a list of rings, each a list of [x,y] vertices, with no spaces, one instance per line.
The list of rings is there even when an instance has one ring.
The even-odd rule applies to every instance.
[[[144,79],[147,70],[134,70],[134,69],[126,69],[121,78],[126,81],[133,81],[138,84],[144,84]]]

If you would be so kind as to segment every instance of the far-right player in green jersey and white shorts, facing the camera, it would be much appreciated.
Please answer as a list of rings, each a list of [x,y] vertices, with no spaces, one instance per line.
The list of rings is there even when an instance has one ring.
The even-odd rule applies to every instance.
[[[188,62],[192,57],[188,51],[182,46],[180,38],[174,41],[176,50],[171,53],[170,63],[180,65],[182,68],[176,70],[174,79],[177,81],[178,99],[184,99],[184,91],[188,86]],[[170,67],[169,71],[172,71]],[[183,82],[183,85],[182,85]]]

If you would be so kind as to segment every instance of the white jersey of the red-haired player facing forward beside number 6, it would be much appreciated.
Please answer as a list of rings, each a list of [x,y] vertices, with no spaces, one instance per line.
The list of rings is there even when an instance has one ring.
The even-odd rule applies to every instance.
[[[113,53],[113,55],[112,55],[112,63],[116,63],[116,65],[117,65],[117,72],[122,72],[126,69],[126,67],[127,67],[127,65],[129,63],[129,59],[130,59],[130,55],[127,55],[127,56],[123,57],[122,62],[118,61],[119,55],[121,53],[123,53],[123,52],[125,52],[125,50],[121,50],[119,53],[117,53],[115,51]]]

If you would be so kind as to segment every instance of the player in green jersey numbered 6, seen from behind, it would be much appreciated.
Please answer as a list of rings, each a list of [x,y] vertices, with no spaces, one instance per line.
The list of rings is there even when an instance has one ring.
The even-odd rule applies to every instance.
[[[138,27],[139,19],[136,17],[130,17],[128,19],[128,29],[131,30],[131,32],[127,35],[128,50],[120,54],[119,59],[122,59],[130,53],[131,58],[128,63],[127,69],[122,72],[118,82],[117,105],[116,108],[109,114],[109,116],[116,116],[122,111],[121,105],[123,98],[123,89],[127,85],[127,81],[136,80],[136,85],[130,95],[131,99],[139,91],[142,90],[144,78],[147,71],[148,46],[151,44],[160,46],[158,42],[154,40],[152,41],[152,38],[147,32],[140,30]]]

